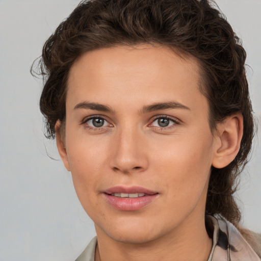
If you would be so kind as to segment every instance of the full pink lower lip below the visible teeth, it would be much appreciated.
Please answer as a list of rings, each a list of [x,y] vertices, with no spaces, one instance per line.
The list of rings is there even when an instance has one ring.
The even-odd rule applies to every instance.
[[[138,198],[120,198],[108,194],[105,195],[107,201],[117,210],[135,211],[151,203],[159,194],[146,195]]]

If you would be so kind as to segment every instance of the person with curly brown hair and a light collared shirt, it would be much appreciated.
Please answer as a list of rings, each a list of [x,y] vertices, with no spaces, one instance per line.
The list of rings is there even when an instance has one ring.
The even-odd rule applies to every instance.
[[[83,1],[43,47],[40,109],[95,237],[78,261],[260,260],[234,200],[254,123],[214,2]]]

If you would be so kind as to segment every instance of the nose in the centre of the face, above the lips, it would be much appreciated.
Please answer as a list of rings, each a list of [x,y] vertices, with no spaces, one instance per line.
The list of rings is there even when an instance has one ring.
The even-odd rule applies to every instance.
[[[129,174],[142,172],[148,167],[145,139],[142,131],[124,128],[115,134],[110,167],[117,172]]]

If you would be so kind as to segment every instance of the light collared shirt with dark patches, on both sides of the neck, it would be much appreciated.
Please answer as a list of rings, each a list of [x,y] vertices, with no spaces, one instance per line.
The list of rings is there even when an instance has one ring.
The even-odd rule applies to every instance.
[[[213,225],[213,246],[207,261],[261,261],[236,227],[220,215],[206,218]],[[94,261],[97,237],[94,237],[75,261]]]

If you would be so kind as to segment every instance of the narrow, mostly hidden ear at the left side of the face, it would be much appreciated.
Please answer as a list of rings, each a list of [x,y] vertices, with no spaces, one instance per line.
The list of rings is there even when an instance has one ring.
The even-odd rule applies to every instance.
[[[56,145],[57,145],[60,157],[63,161],[65,168],[68,171],[70,171],[70,165],[68,162],[65,141],[64,141],[65,133],[64,133],[64,131],[61,131],[61,121],[60,120],[58,120],[55,124],[55,133],[56,133]]]

